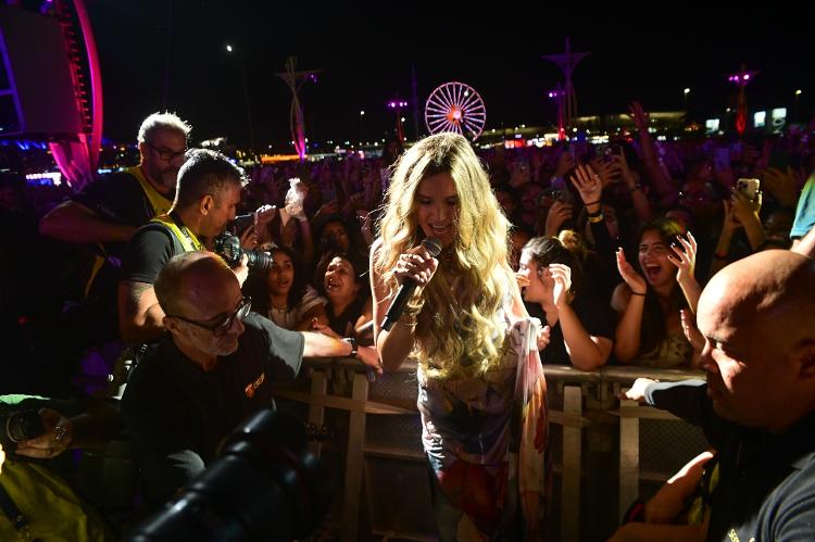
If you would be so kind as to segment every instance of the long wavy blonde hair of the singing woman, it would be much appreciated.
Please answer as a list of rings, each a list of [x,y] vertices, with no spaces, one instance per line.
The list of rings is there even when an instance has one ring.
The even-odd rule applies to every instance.
[[[393,295],[399,255],[425,237],[415,214],[418,186],[442,173],[455,185],[457,236],[452,250],[440,256],[432,280],[411,300],[414,307],[424,303],[414,355],[435,378],[482,375],[501,362],[505,329],[499,310],[514,278],[507,264],[509,223],[487,172],[464,137],[430,136],[397,162],[374,268]]]

